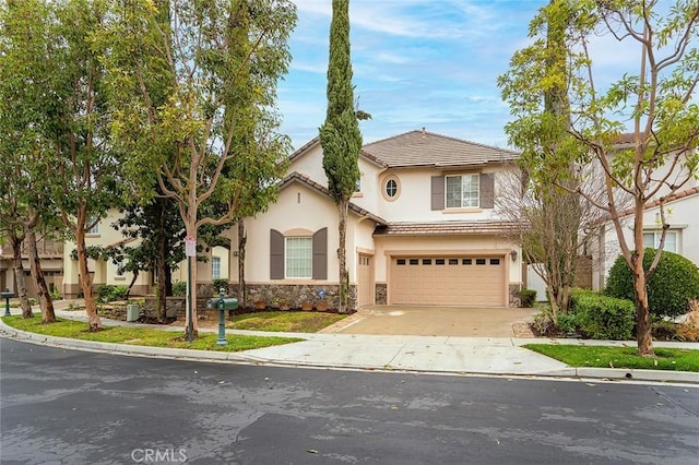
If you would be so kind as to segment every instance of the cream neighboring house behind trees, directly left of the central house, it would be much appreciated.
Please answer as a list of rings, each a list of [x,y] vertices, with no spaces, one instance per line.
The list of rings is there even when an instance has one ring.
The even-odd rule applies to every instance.
[[[116,210],[109,211],[107,216],[102,218],[85,235],[85,246],[99,246],[104,248],[118,247],[127,242],[137,243],[135,239],[125,238],[121,231],[116,230],[111,225],[119,218],[120,213]],[[67,241],[63,248],[63,295],[67,298],[74,298],[81,293],[80,271],[78,260],[75,260],[75,243]],[[223,247],[206,249],[201,255],[206,258],[206,262],[200,262],[197,266],[198,282],[211,282],[217,274],[221,278],[228,277],[229,252]],[[87,270],[93,274],[93,285],[123,285],[131,284],[133,275],[131,273],[120,273],[119,264],[111,260],[87,259]],[[131,288],[131,295],[145,296],[154,291],[155,279],[153,273],[141,272]],[[187,261],[179,264],[178,270],[173,273],[173,282],[187,281]]]

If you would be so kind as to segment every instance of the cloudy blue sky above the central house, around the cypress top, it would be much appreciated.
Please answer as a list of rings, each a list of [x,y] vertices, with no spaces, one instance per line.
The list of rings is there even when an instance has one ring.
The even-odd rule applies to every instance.
[[[295,0],[281,132],[298,148],[325,118],[331,0]],[[419,130],[507,146],[509,109],[496,85],[547,0],[351,0],[355,99],[372,119],[364,143]]]

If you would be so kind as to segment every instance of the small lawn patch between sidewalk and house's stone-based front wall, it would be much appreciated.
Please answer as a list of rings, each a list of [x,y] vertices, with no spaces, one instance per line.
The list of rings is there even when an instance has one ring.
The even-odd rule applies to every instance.
[[[346,314],[307,311],[265,311],[233,317],[226,327],[234,330],[317,333],[346,318]]]

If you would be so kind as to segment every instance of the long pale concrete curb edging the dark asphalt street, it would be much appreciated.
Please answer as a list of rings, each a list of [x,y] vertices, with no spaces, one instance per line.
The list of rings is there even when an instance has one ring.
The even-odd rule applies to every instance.
[[[20,331],[8,326],[0,320],[0,336],[15,338],[22,342],[48,345],[52,347],[76,349],[96,353],[111,353],[125,356],[141,356],[154,358],[168,358],[174,360],[194,360],[208,362],[230,362],[239,365],[269,365],[279,367],[297,367],[297,368],[319,368],[319,369],[344,369],[344,370],[363,370],[363,371],[380,371],[380,372],[410,372],[422,374],[454,374],[454,375],[487,375],[487,377],[517,377],[517,378],[552,378],[552,379],[590,379],[601,381],[645,381],[657,383],[688,383],[699,384],[699,373],[689,371],[668,371],[668,370],[632,370],[618,368],[574,368],[567,367],[559,370],[550,370],[532,373],[493,373],[485,371],[465,371],[465,370],[426,370],[426,369],[403,369],[387,366],[371,367],[357,366],[352,363],[330,363],[330,362],[303,362],[274,360],[270,358],[257,357],[242,351],[225,353],[213,350],[196,350],[166,347],[146,347],[132,346],[117,343],[98,343],[94,341],[80,341],[67,337],[46,336],[43,334]]]

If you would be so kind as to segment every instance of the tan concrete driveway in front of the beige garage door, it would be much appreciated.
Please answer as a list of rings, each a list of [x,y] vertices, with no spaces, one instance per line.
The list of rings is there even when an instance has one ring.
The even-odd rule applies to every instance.
[[[323,333],[415,336],[533,337],[537,311],[520,308],[370,306]]]

